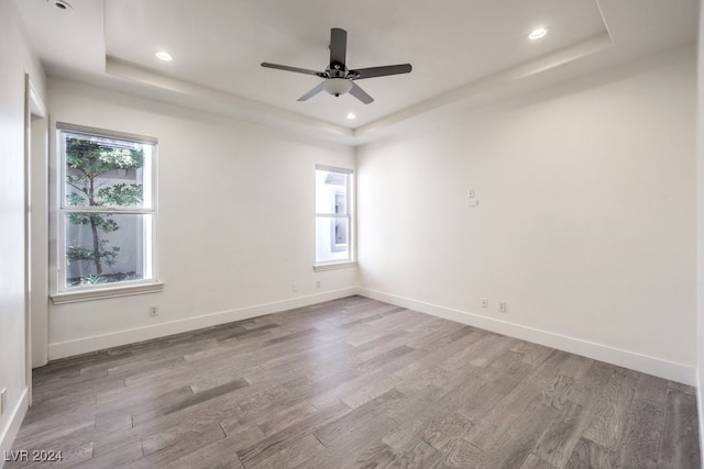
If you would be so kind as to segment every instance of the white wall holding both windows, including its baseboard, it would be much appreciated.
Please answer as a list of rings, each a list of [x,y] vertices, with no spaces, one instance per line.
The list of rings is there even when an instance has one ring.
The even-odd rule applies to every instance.
[[[48,108],[52,123],[158,138],[165,282],[161,293],[53,305],[50,358],[354,291],[355,269],[312,271],[315,167],[354,168],[352,148],[54,78]]]

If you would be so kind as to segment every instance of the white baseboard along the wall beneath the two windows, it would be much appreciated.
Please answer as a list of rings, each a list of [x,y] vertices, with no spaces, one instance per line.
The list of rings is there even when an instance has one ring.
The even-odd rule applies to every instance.
[[[50,360],[73,357],[75,355],[102,350],[120,345],[133,344],[152,338],[164,337],[173,334],[196,331],[204,327],[211,327],[219,324],[234,321],[248,320],[263,316],[265,314],[278,313],[295,308],[308,306],[310,304],[322,303],[324,301],[338,300],[340,298],[358,294],[356,287],[328,291],[323,293],[310,294],[306,297],[293,298],[290,300],[276,301],[273,303],[257,304],[253,306],[240,308],[231,311],[222,311],[202,316],[188,317],[179,321],[155,324],[146,327],[119,331],[110,334],[102,334],[76,340],[62,342],[48,345]]]

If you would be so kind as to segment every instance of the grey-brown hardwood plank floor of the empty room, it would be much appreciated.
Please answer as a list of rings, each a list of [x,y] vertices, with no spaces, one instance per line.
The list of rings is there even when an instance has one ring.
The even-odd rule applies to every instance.
[[[36,369],[21,450],[6,468],[700,467],[693,388],[359,297]]]

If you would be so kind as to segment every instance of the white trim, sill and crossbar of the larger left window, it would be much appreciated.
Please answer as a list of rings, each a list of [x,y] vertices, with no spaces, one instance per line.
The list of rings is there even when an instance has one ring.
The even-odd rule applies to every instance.
[[[156,293],[164,289],[164,283],[158,280],[158,256],[157,256],[157,236],[156,232],[158,230],[157,226],[157,213],[158,213],[158,139],[155,137],[130,134],[124,132],[116,132],[108,131],[103,129],[89,127],[84,125],[69,124],[65,122],[56,122],[55,125],[56,131],[56,153],[55,153],[55,161],[57,164],[56,170],[56,187],[54,190],[55,197],[57,200],[54,201],[53,205],[55,210],[55,223],[54,226],[57,230],[55,233],[56,236],[56,275],[55,280],[53,281],[52,294],[50,298],[53,304],[66,304],[66,303],[75,303],[81,301],[91,301],[91,300],[100,300],[107,298],[119,298],[119,297],[128,297],[133,294],[146,294],[146,293]],[[98,137],[113,137],[119,139],[124,139],[129,142],[136,142],[143,144],[151,144],[155,146],[154,154],[152,155],[152,170],[151,170],[151,185],[152,185],[152,208],[148,210],[143,209],[120,209],[120,210],[111,210],[111,209],[81,209],[81,212],[114,212],[114,213],[124,213],[124,214],[151,214],[154,220],[152,224],[152,243],[151,243],[151,271],[152,277],[144,280],[132,280],[132,281],[122,281],[116,282],[114,286],[100,283],[97,286],[86,286],[86,287],[74,287],[66,288],[65,279],[63,278],[64,269],[66,268],[66,256],[65,256],[65,245],[66,245],[66,233],[65,233],[65,198],[66,198],[66,165],[65,160],[62,156],[62,132],[75,132],[85,135],[95,135]]]

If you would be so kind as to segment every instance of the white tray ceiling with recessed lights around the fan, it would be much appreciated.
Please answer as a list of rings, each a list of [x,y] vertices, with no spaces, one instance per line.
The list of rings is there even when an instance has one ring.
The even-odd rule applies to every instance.
[[[507,81],[546,86],[692,43],[698,8],[696,0],[66,1],[73,9],[15,0],[50,75],[345,138]],[[549,34],[528,41],[537,26]],[[413,72],[358,81],[375,98],[365,105],[349,94],[299,102],[319,78],[260,66],[323,70],[331,27],[348,31],[350,68],[410,63]],[[174,60],[158,60],[161,49]],[[345,119],[350,111],[356,120]]]

